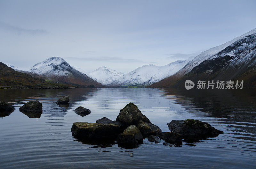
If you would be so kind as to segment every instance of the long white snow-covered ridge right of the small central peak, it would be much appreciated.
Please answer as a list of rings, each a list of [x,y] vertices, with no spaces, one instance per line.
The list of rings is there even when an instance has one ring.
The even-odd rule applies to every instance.
[[[179,60],[164,66],[144,65],[114,81],[110,86],[151,85],[179,71],[191,59]]]

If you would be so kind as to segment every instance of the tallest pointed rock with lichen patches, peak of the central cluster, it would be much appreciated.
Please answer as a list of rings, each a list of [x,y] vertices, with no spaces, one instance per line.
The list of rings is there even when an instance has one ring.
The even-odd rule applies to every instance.
[[[137,125],[140,120],[151,123],[133,103],[127,104],[123,109],[120,110],[120,113],[116,117],[116,121],[120,121],[127,126]]]

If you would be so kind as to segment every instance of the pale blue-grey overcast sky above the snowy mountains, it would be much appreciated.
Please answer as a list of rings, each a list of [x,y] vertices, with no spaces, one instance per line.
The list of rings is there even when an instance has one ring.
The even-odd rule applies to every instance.
[[[256,1],[0,0],[0,62],[58,56],[85,72],[163,66],[256,27]]]

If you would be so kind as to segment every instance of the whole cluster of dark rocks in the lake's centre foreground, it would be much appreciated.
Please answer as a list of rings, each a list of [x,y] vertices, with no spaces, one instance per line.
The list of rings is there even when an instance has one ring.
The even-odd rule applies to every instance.
[[[118,145],[124,147],[143,143],[144,138],[155,143],[160,143],[163,139],[167,143],[180,145],[182,138],[216,136],[223,133],[206,122],[193,119],[171,121],[167,125],[171,131],[162,132],[136,105],[129,103],[120,110],[116,121],[103,117],[95,123],[75,122],[71,131],[76,138],[92,141],[114,139]],[[164,145],[167,144],[165,142]]]

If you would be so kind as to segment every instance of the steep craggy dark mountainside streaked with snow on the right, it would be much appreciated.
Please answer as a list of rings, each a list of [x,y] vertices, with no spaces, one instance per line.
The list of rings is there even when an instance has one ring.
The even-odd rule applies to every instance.
[[[256,83],[256,28],[220,46],[196,56],[180,71],[157,82],[152,87],[183,86],[190,80],[247,79],[247,85]]]

